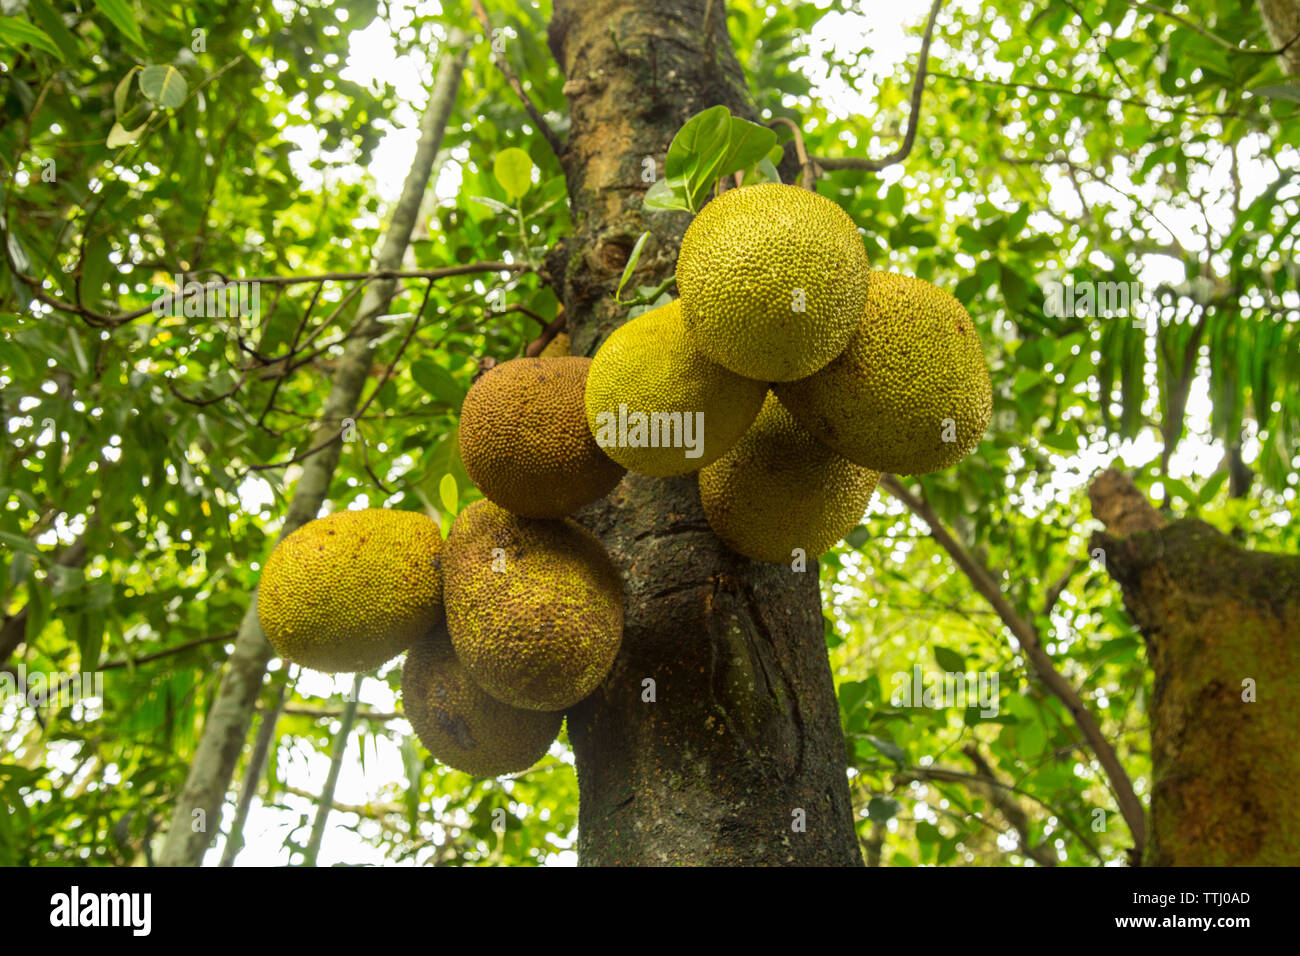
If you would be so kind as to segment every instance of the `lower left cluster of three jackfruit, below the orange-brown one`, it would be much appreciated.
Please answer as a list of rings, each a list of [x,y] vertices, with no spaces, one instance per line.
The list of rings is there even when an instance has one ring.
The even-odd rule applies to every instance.
[[[306,667],[367,671],[408,652],[402,701],[420,740],[447,766],[498,777],[536,763],[610,671],[623,583],[568,519],[482,499],[443,542],[425,515],[368,509],[286,536],[257,613],[276,652]]]

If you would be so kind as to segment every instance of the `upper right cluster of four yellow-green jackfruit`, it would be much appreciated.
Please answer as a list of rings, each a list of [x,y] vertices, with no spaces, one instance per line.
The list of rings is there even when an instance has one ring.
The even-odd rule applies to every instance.
[[[595,354],[588,424],[630,471],[698,470],[710,525],[746,557],[826,551],[881,472],[946,468],[988,427],[970,315],[930,282],[871,271],[853,220],[816,193],[714,199],[682,238],[677,291]]]

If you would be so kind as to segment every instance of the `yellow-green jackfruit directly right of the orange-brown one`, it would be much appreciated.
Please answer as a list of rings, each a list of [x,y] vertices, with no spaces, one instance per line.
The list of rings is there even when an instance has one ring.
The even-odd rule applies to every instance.
[[[764,382],[728,372],[697,352],[681,302],[615,329],[586,376],[586,420],[595,442],[642,475],[685,475],[710,464],[754,421]]]

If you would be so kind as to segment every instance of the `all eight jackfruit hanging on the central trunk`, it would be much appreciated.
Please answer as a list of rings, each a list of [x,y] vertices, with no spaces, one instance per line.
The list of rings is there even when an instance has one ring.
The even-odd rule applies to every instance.
[[[285,537],[259,591],[274,649],[325,671],[408,650],[404,708],[430,753],[474,775],[525,770],[614,666],[623,583],[568,515],[625,470],[698,471],[718,536],[788,562],[852,531],[881,472],[949,467],[988,427],[966,310],[872,272],[853,220],[815,193],[714,199],[682,239],[677,289],[594,359],[556,338],[478,377],[459,436],[484,499],[446,542],[424,515],[373,509]]]

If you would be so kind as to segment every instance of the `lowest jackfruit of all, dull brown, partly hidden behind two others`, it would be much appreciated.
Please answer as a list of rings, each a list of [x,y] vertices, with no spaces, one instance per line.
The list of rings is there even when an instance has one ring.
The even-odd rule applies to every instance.
[[[485,693],[456,658],[442,622],[407,654],[402,710],[438,762],[472,777],[528,770],[564,722],[563,714],[521,710]]]

